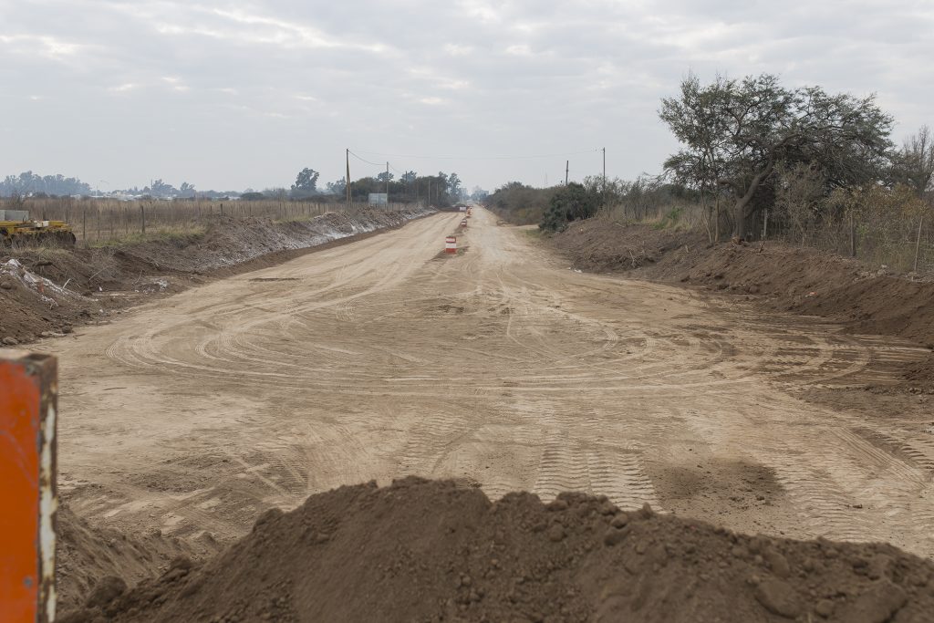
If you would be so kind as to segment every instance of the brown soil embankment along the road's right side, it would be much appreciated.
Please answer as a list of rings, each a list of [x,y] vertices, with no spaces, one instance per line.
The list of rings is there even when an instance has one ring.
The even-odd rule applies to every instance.
[[[770,309],[840,322],[851,333],[897,335],[934,348],[932,280],[870,270],[811,248],[772,241],[710,245],[699,232],[599,219],[574,222],[551,243],[581,270],[738,294]],[[905,375],[934,389],[934,355]]]

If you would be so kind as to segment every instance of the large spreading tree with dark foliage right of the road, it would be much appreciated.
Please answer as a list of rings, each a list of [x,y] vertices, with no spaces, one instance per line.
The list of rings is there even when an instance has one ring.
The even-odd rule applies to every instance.
[[[685,146],[666,170],[701,191],[726,189],[739,237],[780,163],[810,163],[831,188],[855,185],[880,177],[891,147],[892,118],[874,95],[786,89],[769,74],[710,85],[689,76],[679,97],[662,100],[659,116]]]

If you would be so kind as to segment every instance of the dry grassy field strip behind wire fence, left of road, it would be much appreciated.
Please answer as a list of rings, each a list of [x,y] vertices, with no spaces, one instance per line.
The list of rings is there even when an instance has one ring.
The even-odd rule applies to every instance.
[[[404,204],[373,207],[366,203],[296,201],[134,201],[97,199],[27,199],[18,206],[30,219],[64,220],[78,244],[96,245],[165,233],[196,234],[212,221],[266,218],[310,220],[328,212],[356,213],[365,209],[395,211]]]

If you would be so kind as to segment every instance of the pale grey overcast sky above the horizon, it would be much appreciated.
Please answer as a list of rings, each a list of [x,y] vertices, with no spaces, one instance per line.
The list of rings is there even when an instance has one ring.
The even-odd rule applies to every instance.
[[[900,142],[934,125],[932,59],[934,0],[0,0],[0,176],[262,189],[348,147],[492,190],[605,146],[631,178],[675,149],[658,101],[689,71],[877,92]]]

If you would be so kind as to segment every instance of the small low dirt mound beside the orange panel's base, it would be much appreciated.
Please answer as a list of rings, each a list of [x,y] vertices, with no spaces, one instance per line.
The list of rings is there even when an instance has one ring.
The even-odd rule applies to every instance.
[[[86,602],[95,589],[106,586],[107,577],[134,584],[163,572],[178,556],[192,555],[189,545],[161,534],[128,537],[94,528],[67,506],[58,511],[57,542],[56,590],[64,610]]]

